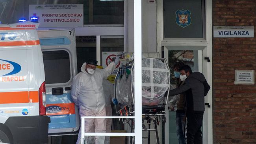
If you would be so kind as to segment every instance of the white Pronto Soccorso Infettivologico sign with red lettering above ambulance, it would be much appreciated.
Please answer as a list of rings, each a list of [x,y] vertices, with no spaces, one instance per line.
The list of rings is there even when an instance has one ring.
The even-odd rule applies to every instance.
[[[29,16],[37,17],[40,27],[82,27],[83,4],[29,5]]]

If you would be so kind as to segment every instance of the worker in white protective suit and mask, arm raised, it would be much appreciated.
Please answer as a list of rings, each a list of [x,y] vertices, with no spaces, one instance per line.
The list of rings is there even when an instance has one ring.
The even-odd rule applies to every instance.
[[[106,116],[106,102],[102,87],[103,79],[106,79],[116,65],[119,63],[119,57],[111,62],[105,69],[96,69],[98,61],[89,60],[83,63],[81,72],[75,76],[72,82],[71,97],[79,107],[80,116]],[[90,132],[105,133],[106,119],[104,118],[85,118],[85,129]],[[76,144],[81,143],[81,130],[78,134]],[[104,144],[105,136],[96,136],[94,144]],[[93,144],[89,141],[91,138],[85,136],[85,144]]]

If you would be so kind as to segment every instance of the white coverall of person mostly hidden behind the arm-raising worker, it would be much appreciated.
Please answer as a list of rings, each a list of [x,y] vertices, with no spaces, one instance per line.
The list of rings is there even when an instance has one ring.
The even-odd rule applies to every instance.
[[[112,108],[111,108],[111,101],[114,98],[114,85],[108,81],[107,79],[103,80],[103,90],[106,100],[106,114],[107,116],[112,116]],[[112,118],[107,118],[106,121],[106,132],[111,132],[111,125],[112,125]],[[104,144],[109,144],[110,136],[105,137]]]

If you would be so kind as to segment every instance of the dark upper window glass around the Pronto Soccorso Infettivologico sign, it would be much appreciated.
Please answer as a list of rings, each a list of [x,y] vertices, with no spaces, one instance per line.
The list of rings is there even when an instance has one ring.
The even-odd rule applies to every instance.
[[[2,2],[3,1],[3,2]],[[124,1],[104,0],[2,0],[0,20],[2,24],[29,19],[30,4],[83,4],[84,24],[124,24]]]

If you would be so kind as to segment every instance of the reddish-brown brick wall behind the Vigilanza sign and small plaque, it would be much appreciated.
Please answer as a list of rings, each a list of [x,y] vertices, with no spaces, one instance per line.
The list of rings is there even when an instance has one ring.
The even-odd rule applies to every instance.
[[[255,24],[256,0],[213,0],[213,26]],[[256,86],[234,85],[236,69],[256,70],[254,37],[213,38],[214,144],[256,144]]]

